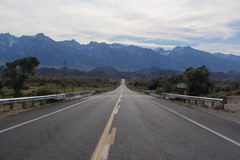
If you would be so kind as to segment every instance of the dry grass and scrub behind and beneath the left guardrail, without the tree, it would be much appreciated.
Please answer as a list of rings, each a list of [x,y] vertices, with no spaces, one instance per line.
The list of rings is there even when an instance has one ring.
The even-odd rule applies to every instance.
[[[50,91],[48,93],[67,93],[81,92],[87,90],[96,90],[96,93],[111,91],[120,85],[118,79],[94,78],[94,77],[79,77],[79,76],[34,76],[26,82],[25,89],[22,90],[22,97],[36,96],[39,90]],[[13,89],[4,87],[0,98],[12,98]],[[18,114],[41,107],[40,102],[35,102],[33,107],[32,102],[25,103],[26,108],[22,104],[14,104],[11,109],[10,105],[0,105],[0,117]]]

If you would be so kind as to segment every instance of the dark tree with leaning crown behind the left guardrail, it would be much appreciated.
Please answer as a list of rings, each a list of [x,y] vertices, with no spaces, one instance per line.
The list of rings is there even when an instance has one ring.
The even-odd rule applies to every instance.
[[[4,71],[6,85],[14,90],[14,96],[21,95],[25,81],[30,75],[34,75],[34,69],[39,65],[36,57],[18,59],[14,62],[6,63],[7,69]]]

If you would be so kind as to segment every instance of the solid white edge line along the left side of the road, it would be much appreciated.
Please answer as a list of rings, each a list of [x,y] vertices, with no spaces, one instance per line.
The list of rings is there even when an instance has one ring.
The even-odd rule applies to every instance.
[[[97,99],[97,98],[99,98],[99,96],[98,96],[98,97],[95,97],[95,98],[88,99],[88,100],[81,101],[81,102],[79,102],[79,103],[76,103],[76,104],[70,105],[70,106],[68,106],[68,107],[65,107],[65,108],[59,109],[59,110],[57,110],[57,111],[54,111],[54,112],[51,112],[51,113],[45,114],[45,115],[43,115],[43,116],[40,116],[40,117],[34,118],[34,119],[32,119],[32,120],[29,120],[29,121],[26,121],[26,122],[23,122],[23,123],[17,124],[17,125],[15,125],[15,126],[12,126],[12,127],[9,127],[9,128],[3,129],[3,130],[0,130],[0,134],[1,134],[1,133],[4,133],[4,132],[7,132],[7,131],[10,131],[10,130],[12,130],[12,129],[15,129],[15,128],[18,128],[18,127],[21,127],[21,126],[23,126],[23,125],[26,125],[26,124],[32,123],[32,122],[34,122],[34,121],[37,121],[37,120],[40,120],[40,119],[46,118],[46,117],[51,116],[51,115],[54,115],[54,114],[56,114],[56,113],[59,113],[59,112],[65,111],[65,110],[67,110],[67,109],[69,109],[69,108],[72,108],[72,107],[74,107],[74,106],[76,106],[76,105],[79,105],[79,104],[81,104],[81,103],[85,103],[85,102],[88,102],[88,101],[91,101],[91,100],[94,100],[94,99]]]

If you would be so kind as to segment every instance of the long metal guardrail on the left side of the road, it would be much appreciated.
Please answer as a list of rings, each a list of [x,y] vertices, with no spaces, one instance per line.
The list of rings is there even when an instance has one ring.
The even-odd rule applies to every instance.
[[[24,102],[34,102],[34,101],[44,101],[44,100],[69,100],[73,98],[78,98],[82,96],[88,96],[95,93],[94,90],[92,91],[85,91],[85,92],[72,92],[72,93],[62,93],[62,94],[54,94],[54,95],[47,95],[47,96],[34,96],[34,97],[21,97],[21,98],[9,98],[9,99],[0,99],[0,105],[2,104],[14,104],[14,103],[24,103]]]

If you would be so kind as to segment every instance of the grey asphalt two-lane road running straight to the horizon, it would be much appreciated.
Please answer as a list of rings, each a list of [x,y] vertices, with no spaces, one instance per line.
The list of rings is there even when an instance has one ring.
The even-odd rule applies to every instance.
[[[0,120],[0,160],[238,160],[240,125],[122,85]]]

